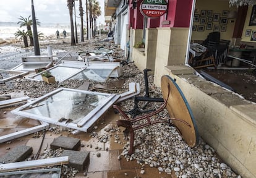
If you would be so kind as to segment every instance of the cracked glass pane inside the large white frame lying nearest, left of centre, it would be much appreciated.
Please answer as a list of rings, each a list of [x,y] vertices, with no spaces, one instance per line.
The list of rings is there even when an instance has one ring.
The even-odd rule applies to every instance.
[[[54,122],[77,124],[89,112],[105,102],[108,96],[62,90],[22,111],[50,117]]]

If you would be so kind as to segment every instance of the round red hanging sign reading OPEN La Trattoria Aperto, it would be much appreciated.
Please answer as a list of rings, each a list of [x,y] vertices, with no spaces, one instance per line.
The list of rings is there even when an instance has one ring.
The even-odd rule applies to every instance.
[[[144,0],[140,4],[142,15],[157,18],[164,15],[167,11],[167,3],[164,0]]]

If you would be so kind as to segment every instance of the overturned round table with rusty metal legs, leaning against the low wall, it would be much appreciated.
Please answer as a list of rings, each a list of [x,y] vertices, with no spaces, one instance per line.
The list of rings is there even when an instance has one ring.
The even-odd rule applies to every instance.
[[[130,134],[129,155],[132,155],[134,152],[134,130],[142,129],[143,127],[147,127],[151,124],[162,122],[167,122],[168,124],[176,127],[187,145],[195,146],[198,143],[198,131],[197,126],[195,125],[195,119],[179,86],[176,84],[173,78],[164,75],[161,78],[161,90],[163,93],[164,103],[156,111],[145,114],[144,116],[138,116],[134,119],[130,119],[124,113],[124,111],[122,111],[118,106],[114,105],[114,108],[117,109],[125,119],[117,121],[117,126],[125,127],[126,130],[124,130],[124,133],[129,132]],[[170,117],[151,119],[151,117],[155,116],[155,114],[163,111],[164,108],[167,108]],[[141,124],[140,121],[143,121],[143,124]]]

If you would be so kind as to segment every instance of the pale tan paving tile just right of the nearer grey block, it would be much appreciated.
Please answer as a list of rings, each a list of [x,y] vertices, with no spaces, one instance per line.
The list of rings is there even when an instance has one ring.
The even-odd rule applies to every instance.
[[[98,158],[97,153],[101,156]],[[119,170],[118,151],[91,151],[88,172]],[[111,163],[111,164],[109,164]]]

